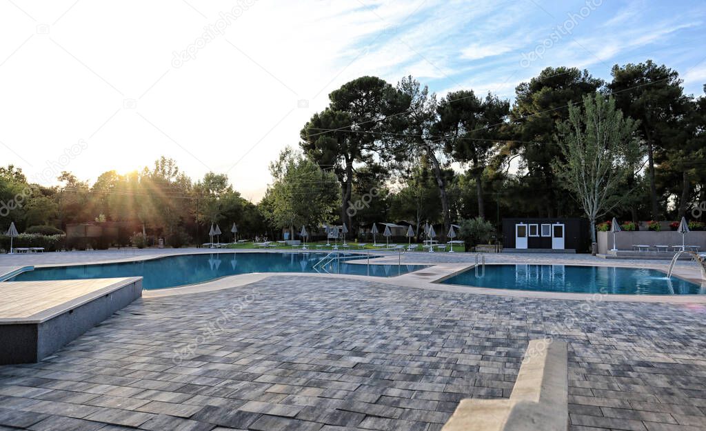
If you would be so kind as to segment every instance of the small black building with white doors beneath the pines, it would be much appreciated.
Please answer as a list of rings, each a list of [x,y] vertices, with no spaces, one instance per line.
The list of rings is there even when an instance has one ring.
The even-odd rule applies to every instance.
[[[505,252],[588,252],[590,225],[585,218],[503,218]]]

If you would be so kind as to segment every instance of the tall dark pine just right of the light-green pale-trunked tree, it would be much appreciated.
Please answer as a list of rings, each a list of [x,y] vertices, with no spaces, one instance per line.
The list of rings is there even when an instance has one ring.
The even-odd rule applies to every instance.
[[[679,74],[652,60],[640,64],[617,64],[611,71],[608,90],[616,106],[628,117],[640,120],[640,137],[647,148],[647,178],[650,182],[652,219],[662,216],[655,182],[655,153],[664,148],[666,138],[677,129],[679,117],[686,110],[686,98]]]

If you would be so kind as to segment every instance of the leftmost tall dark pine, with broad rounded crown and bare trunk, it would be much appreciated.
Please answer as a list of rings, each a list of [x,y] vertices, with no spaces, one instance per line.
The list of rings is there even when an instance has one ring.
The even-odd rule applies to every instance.
[[[407,110],[405,98],[392,85],[375,76],[345,83],[328,96],[330,105],[314,114],[301,130],[301,148],[319,166],[333,168],[341,184],[341,220],[351,225],[347,213],[353,191],[356,163],[372,163],[389,153],[388,134],[399,130],[402,119],[393,115]]]

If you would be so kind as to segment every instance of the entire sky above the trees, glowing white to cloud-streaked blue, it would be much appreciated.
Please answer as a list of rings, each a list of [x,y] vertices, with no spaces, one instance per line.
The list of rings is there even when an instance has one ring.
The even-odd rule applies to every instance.
[[[653,59],[702,95],[705,21],[702,0],[0,0],[0,165],[52,185],[164,155],[258,201],[354,78],[513,100],[547,66]]]

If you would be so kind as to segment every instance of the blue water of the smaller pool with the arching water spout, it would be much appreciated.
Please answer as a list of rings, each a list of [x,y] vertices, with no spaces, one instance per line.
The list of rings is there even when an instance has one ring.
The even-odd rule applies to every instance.
[[[654,269],[571,265],[486,265],[442,283],[479,288],[626,295],[706,295],[706,288]]]

